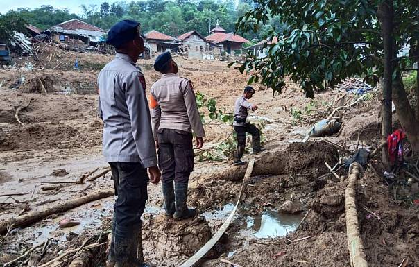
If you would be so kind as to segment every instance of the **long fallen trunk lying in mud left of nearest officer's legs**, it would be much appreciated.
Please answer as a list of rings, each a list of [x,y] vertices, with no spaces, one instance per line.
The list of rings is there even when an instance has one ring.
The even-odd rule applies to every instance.
[[[22,216],[8,218],[7,220],[2,221],[0,223],[0,234],[5,234],[6,232],[8,232],[9,227],[11,227],[11,229],[14,229],[17,227],[31,225],[32,223],[41,221],[43,218],[46,218],[47,216],[50,216],[52,214],[65,212],[69,209],[74,209],[75,207],[81,206],[85,203],[89,203],[94,200],[99,200],[101,198],[108,198],[109,196],[113,195],[114,189],[97,191],[87,196],[82,196],[81,198],[69,199],[64,203],[55,205],[54,207],[46,207],[42,210],[34,210],[32,212],[28,212],[27,214],[24,214]]]

